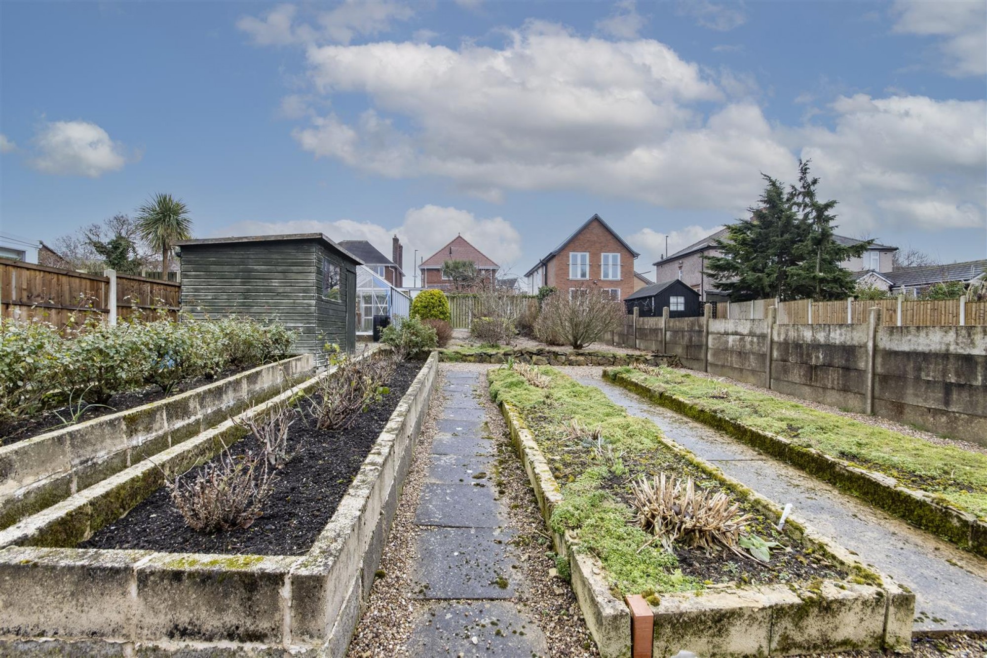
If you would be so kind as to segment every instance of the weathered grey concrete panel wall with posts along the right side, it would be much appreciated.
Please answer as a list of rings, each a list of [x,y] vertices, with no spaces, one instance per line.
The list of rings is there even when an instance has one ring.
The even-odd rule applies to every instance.
[[[987,446],[987,325],[779,324],[633,318],[612,345],[677,355],[693,370]]]

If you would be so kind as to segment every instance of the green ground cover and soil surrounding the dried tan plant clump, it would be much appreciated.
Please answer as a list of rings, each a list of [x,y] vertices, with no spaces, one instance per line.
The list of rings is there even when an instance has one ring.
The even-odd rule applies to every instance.
[[[698,591],[721,584],[785,584],[812,587],[822,579],[847,579],[844,567],[823,550],[802,543],[797,533],[778,531],[777,518],[734,487],[698,458],[690,459],[661,440],[652,422],[630,416],[598,388],[577,383],[552,368],[540,368],[547,385],[528,383],[508,368],[490,371],[491,394],[518,410],[531,430],[561,485],[563,501],[552,513],[550,525],[578,540],[578,550],[596,556],[615,595]],[[593,442],[573,439],[571,421],[602,430],[603,451]],[[631,504],[632,482],[660,472],[691,476],[697,487],[721,490],[752,516],[746,534],[780,544],[767,564],[726,549],[708,553],[702,548],[674,545],[662,549],[652,535],[635,522]],[[741,551],[743,552],[743,551]],[[873,582],[862,571],[849,580]]]

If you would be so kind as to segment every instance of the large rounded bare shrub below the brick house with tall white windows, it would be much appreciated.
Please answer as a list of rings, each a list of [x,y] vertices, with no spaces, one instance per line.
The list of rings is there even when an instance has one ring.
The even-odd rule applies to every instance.
[[[598,341],[624,321],[624,306],[596,286],[571,288],[550,295],[535,323],[538,340],[569,345],[575,350]]]

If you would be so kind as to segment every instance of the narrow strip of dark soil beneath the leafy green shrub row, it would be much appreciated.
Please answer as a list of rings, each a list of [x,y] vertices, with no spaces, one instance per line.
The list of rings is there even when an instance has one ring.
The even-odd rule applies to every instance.
[[[216,376],[200,376],[185,379],[175,384],[175,387],[172,389],[172,395],[184,393],[193,388],[214,383],[220,379],[225,379],[226,377],[237,374],[238,372],[243,372],[244,370],[250,370],[252,368],[257,367],[240,366],[237,368],[227,368],[226,370],[220,371]],[[159,386],[147,386],[146,388],[141,388],[140,390],[116,393],[112,398],[110,398],[110,402],[107,403],[107,406],[90,407],[85,413],[82,414],[79,422],[81,423],[83,421],[93,420],[94,418],[100,418],[101,416],[114,414],[117,411],[126,411],[127,409],[139,407],[142,404],[149,404],[151,402],[157,402],[158,400],[163,399],[165,399],[165,394]],[[59,419],[56,414],[61,414],[62,418],[66,419],[71,415],[67,407],[62,407],[61,409],[43,411],[30,418],[0,423],[0,446],[16,444],[19,441],[37,437],[39,434],[44,434],[45,432],[59,429],[61,426],[64,426],[65,423]]]

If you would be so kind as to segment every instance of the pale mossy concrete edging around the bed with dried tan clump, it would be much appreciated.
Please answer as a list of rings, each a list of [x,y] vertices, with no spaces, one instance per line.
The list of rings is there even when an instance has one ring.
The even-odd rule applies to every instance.
[[[511,441],[521,457],[546,524],[562,500],[561,488],[519,411],[500,403]],[[742,493],[769,516],[782,511],[760,494],[724,475],[674,442],[662,438],[670,449],[702,467],[723,484]],[[550,530],[551,532],[551,530]],[[797,515],[790,515],[786,532],[818,547],[848,573],[875,576],[846,549],[810,529]],[[631,613],[602,578],[602,566],[594,557],[573,550],[577,539],[569,533],[553,533],[557,552],[569,557],[572,589],[586,624],[604,658],[631,655]],[[879,579],[880,576],[877,575]],[[653,614],[652,655],[671,656],[681,649],[698,655],[785,655],[805,651],[887,647],[909,650],[915,596],[894,585],[880,586],[826,580],[817,591],[789,586],[720,587],[698,593],[673,593],[660,597]],[[814,624],[806,620],[817,617]],[[839,636],[833,637],[830,629]]]

